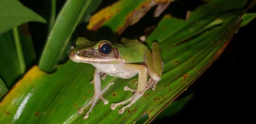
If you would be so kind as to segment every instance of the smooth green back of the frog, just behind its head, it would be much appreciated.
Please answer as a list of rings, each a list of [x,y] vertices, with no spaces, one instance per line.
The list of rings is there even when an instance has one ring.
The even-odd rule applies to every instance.
[[[118,50],[126,63],[144,62],[144,55],[149,51],[148,47],[137,39],[121,39],[123,46],[119,46]]]

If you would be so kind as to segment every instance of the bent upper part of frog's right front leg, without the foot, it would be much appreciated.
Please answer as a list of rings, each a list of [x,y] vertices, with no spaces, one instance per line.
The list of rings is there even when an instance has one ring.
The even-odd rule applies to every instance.
[[[146,88],[148,73],[147,73],[147,67],[145,65],[134,65],[134,64],[124,64],[123,65],[125,70],[129,71],[137,71],[139,78],[138,78],[138,86],[137,91],[139,93],[144,93],[144,90]]]

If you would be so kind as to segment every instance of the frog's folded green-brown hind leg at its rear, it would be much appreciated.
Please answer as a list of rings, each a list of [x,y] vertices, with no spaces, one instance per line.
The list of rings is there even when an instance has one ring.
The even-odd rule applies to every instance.
[[[152,90],[154,90],[163,72],[163,60],[158,43],[152,43],[152,54],[150,51],[146,51],[145,54],[147,56],[145,57],[145,64],[148,66],[148,75],[150,76],[147,87],[152,87]]]

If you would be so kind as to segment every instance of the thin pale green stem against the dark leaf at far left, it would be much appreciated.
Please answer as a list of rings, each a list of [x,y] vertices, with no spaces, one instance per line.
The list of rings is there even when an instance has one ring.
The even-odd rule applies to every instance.
[[[26,65],[24,61],[22,46],[20,43],[20,35],[19,35],[18,28],[17,27],[13,28],[12,33],[13,33],[13,40],[15,44],[16,54],[18,57],[19,65],[20,65],[20,73],[23,74],[26,70]]]

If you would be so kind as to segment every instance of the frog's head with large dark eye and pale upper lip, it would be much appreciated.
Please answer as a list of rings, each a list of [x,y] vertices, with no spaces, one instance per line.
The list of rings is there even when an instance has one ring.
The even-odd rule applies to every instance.
[[[91,42],[84,37],[76,40],[76,45],[70,50],[69,57],[74,62],[90,64],[117,64],[123,61],[119,51],[111,42],[107,40]]]

